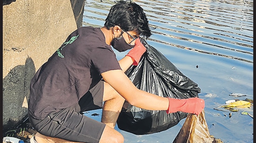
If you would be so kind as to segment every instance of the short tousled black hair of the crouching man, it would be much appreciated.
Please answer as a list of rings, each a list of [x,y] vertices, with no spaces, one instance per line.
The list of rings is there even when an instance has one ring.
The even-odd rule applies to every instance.
[[[131,0],[117,1],[110,8],[104,26],[110,29],[115,25],[120,26],[124,31],[136,31],[142,37],[148,38],[152,35],[147,16],[142,7],[131,2]]]

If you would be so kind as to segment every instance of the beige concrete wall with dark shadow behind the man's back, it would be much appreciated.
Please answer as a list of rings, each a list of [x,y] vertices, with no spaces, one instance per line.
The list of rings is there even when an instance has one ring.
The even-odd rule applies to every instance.
[[[27,116],[31,78],[81,27],[83,10],[84,0],[3,3],[3,129]]]

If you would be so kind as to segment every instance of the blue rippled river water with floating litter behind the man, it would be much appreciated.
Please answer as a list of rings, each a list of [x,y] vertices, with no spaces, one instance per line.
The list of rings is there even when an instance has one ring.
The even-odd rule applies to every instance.
[[[229,99],[253,99],[253,0],[133,0],[148,16],[159,50],[201,88],[209,133],[224,143],[253,143],[253,107],[215,110]],[[85,0],[83,26],[101,27],[114,0]],[[126,53],[116,52],[121,59]],[[234,97],[232,93],[246,96]],[[100,121],[101,116],[86,116]],[[172,143],[185,119],[166,131],[134,135],[125,143]]]

